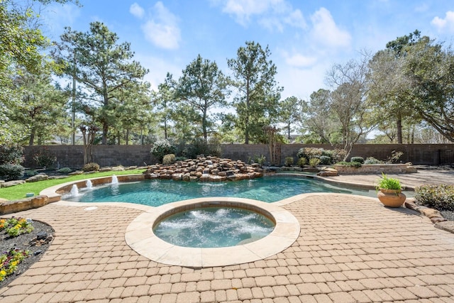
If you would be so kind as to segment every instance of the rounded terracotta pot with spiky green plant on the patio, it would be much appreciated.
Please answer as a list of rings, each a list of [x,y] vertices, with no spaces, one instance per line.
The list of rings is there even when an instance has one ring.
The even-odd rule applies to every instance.
[[[377,183],[377,197],[384,206],[400,207],[405,202],[405,194],[402,194],[402,185],[399,179],[388,177],[382,173]]]

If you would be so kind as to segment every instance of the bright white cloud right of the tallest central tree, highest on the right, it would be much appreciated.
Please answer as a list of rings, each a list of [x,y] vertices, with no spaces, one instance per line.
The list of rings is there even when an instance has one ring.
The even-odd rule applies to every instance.
[[[338,28],[333,16],[324,7],[311,16],[311,21],[314,26],[311,35],[319,43],[327,46],[341,47],[348,47],[350,45],[350,33]]]

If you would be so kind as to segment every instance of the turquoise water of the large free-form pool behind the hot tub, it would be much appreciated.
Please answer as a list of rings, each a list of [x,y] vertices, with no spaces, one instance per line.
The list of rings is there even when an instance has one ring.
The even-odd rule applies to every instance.
[[[160,206],[201,197],[238,197],[262,202],[277,202],[308,192],[337,192],[377,197],[375,190],[348,189],[305,177],[262,177],[233,182],[182,182],[145,180],[106,184],[92,189],[79,189],[79,194],[62,197],[73,202],[130,202]]]

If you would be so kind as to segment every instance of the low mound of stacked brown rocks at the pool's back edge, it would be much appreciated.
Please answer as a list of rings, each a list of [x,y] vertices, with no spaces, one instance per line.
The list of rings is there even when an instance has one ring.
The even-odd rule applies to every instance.
[[[246,164],[241,160],[203,157],[177,161],[171,165],[148,165],[143,174],[145,179],[219,182],[262,177],[263,170],[257,163]]]

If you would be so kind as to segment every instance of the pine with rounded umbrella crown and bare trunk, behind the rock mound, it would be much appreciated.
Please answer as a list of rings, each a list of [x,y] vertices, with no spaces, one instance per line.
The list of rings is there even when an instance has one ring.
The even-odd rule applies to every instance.
[[[209,109],[226,105],[227,84],[227,78],[218,69],[216,62],[203,59],[200,55],[187,65],[179,78],[177,99],[199,111],[198,118],[205,143],[208,142]]]

